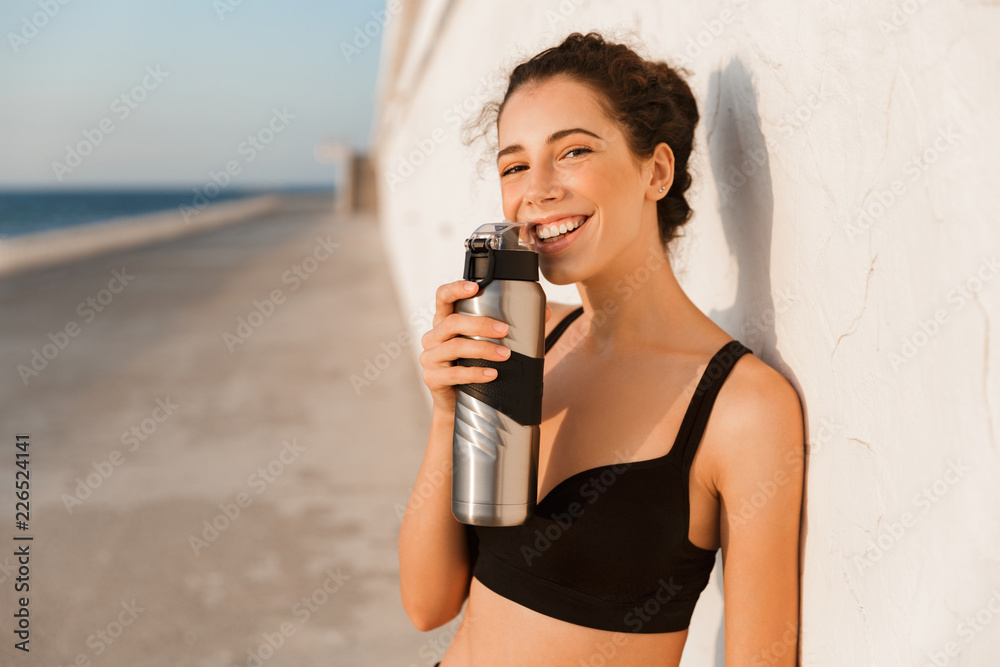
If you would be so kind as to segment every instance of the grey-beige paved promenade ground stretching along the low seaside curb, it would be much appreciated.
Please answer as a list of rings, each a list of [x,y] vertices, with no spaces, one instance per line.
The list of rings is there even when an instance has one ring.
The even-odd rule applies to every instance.
[[[403,354],[352,387],[404,326],[374,217],[332,210],[288,199],[0,279],[0,663],[440,659],[453,629],[415,630],[398,589],[395,506],[429,425],[419,368]],[[21,595],[30,653],[14,648]]]

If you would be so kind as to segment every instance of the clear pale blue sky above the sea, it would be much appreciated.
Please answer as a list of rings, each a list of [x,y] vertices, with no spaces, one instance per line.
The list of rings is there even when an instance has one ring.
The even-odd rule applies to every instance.
[[[4,0],[0,187],[328,185],[317,143],[370,144],[384,10]]]

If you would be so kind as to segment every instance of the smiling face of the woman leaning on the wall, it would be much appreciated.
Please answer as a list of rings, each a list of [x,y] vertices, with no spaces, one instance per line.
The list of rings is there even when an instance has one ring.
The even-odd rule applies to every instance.
[[[625,249],[649,238],[649,225],[656,233],[651,160],[636,164],[590,87],[565,77],[522,86],[497,129],[504,215],[540,223],[531,233],[553,284],[613,270]],[[560,234],[567,225],[576,229]]]

